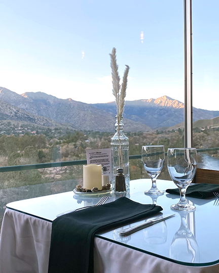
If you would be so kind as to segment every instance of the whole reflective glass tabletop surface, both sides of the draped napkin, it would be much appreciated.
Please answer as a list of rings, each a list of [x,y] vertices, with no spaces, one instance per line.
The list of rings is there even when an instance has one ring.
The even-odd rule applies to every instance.
[[[166,190],[175,188],[172,181],[158,180],[158,188]],[[147,196],[144,191],[151,186],[151,179],[138,179],[130,182],[130,193],[126,196],[142,204],[162,206],[163,214],[176,215],[166,221],[157,223],[130,236],[121,237],[119,231],[137,223],[123,226],[117,230],[96,235],[104,240],[114,242],[144,253],[190,266],[207,266],[219,262],[219,206],[215,198],[188,198],[195,204],[196,211],[174,212],[170,205],[175,204],[179,196],[165,193],[162,196]],[[121,195],[108,193],[107,202],[112,202]],[[102,196],[80,196],[73,192],[38,197],[9,203],[7,208],[53,221],[56,215],[83,206],[96,204]],[[138,223],[144,222],[144,220]]]

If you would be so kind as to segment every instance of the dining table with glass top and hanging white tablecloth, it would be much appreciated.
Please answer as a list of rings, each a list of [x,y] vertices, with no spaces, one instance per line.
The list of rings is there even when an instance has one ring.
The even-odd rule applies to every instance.
[[[159,190],[176,188],[169,180],[157,180]],[[95,234],[95,273],[218,273],[219,206],[214,198],[187,198],[195,211],[173,211],[178,195],[145,195],[151,179],[130,181],[126,193],[107,192],[107,202],[127,197],[141,204],[157,204],[160,213],[175,214],[165,221],[128,236],[119,233],[147,219]],[[0,240],[0,273],[47,273],[52,222],[57,215],[95,205],[102,194],[64,192],[7,204]],[[83,232],[83,231],[82,231]],[[83,255],[83,253],[82,253]],[[74,272],[74,268],[72,268]]]

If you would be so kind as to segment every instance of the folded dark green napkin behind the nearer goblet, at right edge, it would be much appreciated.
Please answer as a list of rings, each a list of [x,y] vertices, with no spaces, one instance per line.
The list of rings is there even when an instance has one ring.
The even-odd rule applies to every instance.
[[[167,189],[167,193],[179,195],[179,189]],[[190,185],[186,191],[186,196],[195,198],[210,198],[214,197],[213,193],[219,193],[219,185],[200,183],[195,185]]]

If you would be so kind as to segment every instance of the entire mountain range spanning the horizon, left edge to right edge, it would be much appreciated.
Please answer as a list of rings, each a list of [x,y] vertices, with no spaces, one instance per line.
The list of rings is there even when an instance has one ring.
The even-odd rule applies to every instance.
[[[42,92],[18,95],[0,87],[0,120],[28,121],[44,126],[70,126],[77,130],[114,131],[115,102],[86,104],[58,99]],[[193,120],[211,119],[219,111],[193,108]],[[184,104],[163,96],[158,99],[126,101],[125,131],[152,131],[184,120]]]

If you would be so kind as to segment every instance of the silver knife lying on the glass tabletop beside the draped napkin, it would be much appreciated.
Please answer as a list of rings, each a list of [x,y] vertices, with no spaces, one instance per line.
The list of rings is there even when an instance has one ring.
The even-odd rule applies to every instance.
[[[173,216],[175,216],[175,214],[165,214],[165,215],[150,218],[144,223],[137,224],[135,226],[132,226],[132,228],[128,228],[128,229],[125,229],[125,230],[119,232],[119,235],[129,236],[134,232],[137,232],[137,231],[142,230],[144,228],[148,228],[148,226],[159,223],[159,222],[164,221],[164,220],[171,218]]]

